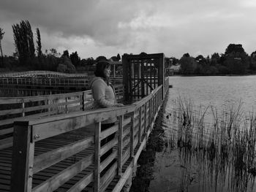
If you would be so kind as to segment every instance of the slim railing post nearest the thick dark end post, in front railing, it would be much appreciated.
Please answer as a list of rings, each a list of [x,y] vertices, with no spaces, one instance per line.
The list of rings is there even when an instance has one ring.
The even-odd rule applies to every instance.
[[[101,132],[101,122],[96,123],[94,130],[94,143],[95,143],[95,153],[94,153],[94,192],[98,192],[100,188],[100,132]]]

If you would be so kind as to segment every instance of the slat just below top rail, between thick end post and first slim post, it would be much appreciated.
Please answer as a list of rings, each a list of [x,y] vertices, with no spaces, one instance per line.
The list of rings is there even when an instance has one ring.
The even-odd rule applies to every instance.
[[[42,155],[36,156],[34,158],[34,174],[42,169],[47,168],[48,166],[68,158],[71,155],[74,155],[75,153],[79,153],[81,150],[91,146],[93,142],[94,137],[86,137],[85,139],[81,139],[78,142],[73,142],[64,147],[59,147],[56,150],[52,150],[48,153],[43,153]]]

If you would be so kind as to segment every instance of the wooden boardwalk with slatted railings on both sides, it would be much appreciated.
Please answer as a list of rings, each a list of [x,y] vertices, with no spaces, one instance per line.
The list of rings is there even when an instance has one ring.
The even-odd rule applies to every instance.
[[[0,110],[0,191],[121,191],[132,177],[167,93],[168,79],[157,83],[161,81],[140,101],[99,110],[86,110],[87,92],[10,99],[20,107]],[[123,95],[124,90],[118,90]],[[131,90],[136,96],[141,91]],[[56,99],[61,102],[51,102]],[[102,131],[102,121],[111,117],[118,117],[118,122]],[[115,137],[101,145],[111,134]]]

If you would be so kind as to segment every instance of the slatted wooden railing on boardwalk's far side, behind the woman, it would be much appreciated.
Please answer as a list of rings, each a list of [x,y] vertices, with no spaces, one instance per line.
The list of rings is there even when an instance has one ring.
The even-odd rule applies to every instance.
[[[123,98],[123,85],[115,85],[118,100]],[[12,146],[12,123],[26,116],[48,115],[89,110],[91,90],[47,96],[0,97],[0,150]]]

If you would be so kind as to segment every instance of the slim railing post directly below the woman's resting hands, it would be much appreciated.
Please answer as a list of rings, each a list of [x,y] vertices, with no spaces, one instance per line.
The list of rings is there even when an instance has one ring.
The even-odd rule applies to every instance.
[[[118,125],[118,176],[121,176],[122,168],[122,152],[123,152],[123,122],[124,115],[119,116],[119,125]]]

